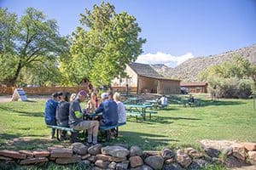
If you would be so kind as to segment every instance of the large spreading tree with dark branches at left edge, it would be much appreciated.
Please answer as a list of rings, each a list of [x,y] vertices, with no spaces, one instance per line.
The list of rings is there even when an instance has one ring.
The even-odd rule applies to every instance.
[[[67,52],[67,40],[61,37],[55,20],[43,12],[27,8],[17,20],[15,14],[0,8],[0,82],[14,86],[23,68],[36,68],[55,62]],[[49,70],[45,70],[49,71]],[[32,74],[42,74],[34,69]]]

